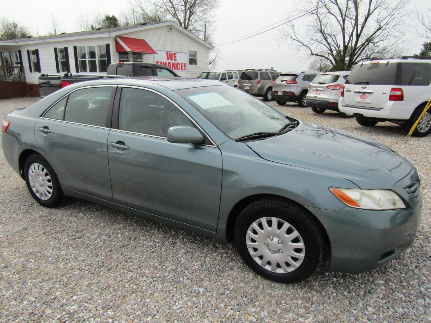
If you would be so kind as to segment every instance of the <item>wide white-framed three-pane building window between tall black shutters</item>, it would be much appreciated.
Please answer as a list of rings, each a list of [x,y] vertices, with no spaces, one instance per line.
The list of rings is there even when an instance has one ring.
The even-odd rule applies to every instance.
[[[78,64],[80,72],[106,72],[106,46],[78,47]]]

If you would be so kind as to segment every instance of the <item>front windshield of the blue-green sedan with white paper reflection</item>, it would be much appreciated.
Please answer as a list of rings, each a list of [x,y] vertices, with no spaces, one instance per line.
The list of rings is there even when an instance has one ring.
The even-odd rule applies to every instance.
[[[233,140],[259,132],[278,132],[295,121],[231,86],[197,87],[175,93]]]

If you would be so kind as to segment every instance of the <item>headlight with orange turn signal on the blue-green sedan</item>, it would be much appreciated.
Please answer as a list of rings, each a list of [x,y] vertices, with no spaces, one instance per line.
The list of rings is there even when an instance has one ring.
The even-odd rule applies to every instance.
[[[397,193],[390,189],[344,189],[329,190],[345,205],[365,210],[392,210],[406,208]]]

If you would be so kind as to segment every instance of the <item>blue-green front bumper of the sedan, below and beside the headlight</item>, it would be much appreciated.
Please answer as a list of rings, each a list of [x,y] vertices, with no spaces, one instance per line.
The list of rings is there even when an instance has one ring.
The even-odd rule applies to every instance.
[[[370,211],[345,207],[338,211],[307,208],[322,223],[331,243],[331,271],[358,273],[373,270],[409,248],[422,214],[422,197],[407,193],[419,182],[412,172],[392,188],[404,200],[401,210]]]

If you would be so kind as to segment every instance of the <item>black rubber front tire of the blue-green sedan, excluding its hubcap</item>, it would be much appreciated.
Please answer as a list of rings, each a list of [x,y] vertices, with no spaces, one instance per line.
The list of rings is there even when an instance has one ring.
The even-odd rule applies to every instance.
[[[255,230],[257,234],[262,234],[264,238],[262,238],[259,244],[259,248],[262,249],[260,250],[259,248],[251,247],[253,248],[252,251],[256,252],[256,250],[254,249],[257,249],[257,252],[259,252],[260,250],[264,253],[265,256],[256,255],[256,257],[253,258],[250,255],[250,250],[247,247],[247,239],[250,239],[250,235],[247,235],[247,231],[250,229],[250,226],[255,221],[260,221],[262,220],[262,218],[265,219],[269,217],[278,218],[278,230],[281,229],[281,226],[284,222],[290,224],[290,227],[284,233],[276,233],[272,237],[273,240],[269,240],[271,239],[271,236],[269,236],[272,232],[271,230],[267,230],[266,233],[263,231],[257,233],[257,231]],[[271,229],[272,225],[273,224],[271,221]],[[289,233],[289,230],[292,231]],[[285,234],[291,234],[294,231],[297,231],[297,233],[299,233],[299,238],[295,238],[298,239],[297,241],[293,239],[289,242],[288,238],[285,237]],[[247,208],[245,208],[244,211],[241,212],[235,224],[234,239],[238,252],[240,253],[247,266],[249,266],[254,272],[259,274],[260,276],[263,276],[269,280],[273,280],[278,283],[297,283],[311,276],[315,272],[315,270],[319,266],[320,261],[323,258],[325,245],[324,233],[322,232],[321,226],[319,222],[314,217],[312,217],[312,215],[306,212],[303,208],[300,208],[293,203],[284,201],[282,199],[273,198],[258,199],[248,205]],[[262,244],[263,239],[265,239],[265,241],[268,241],[265,242],[265,245]],[[284,239],[284,242],[281,242],[281,244],[279,244],[278,239]],[[297,259],[297,261],[299,262],[299,266],[297,268],[294,268],[294,266],[289,266],[287,261],[284,260],[286,256],[284,256],[283,258],[282,252],[284,250],[281,248],[289,248],[291,242],[298,243],[299,241],[299,243],[301,243],[301,239],[303,243],[303,248],[295,248],[295,250],[296,252],[303,252],[303,259],[302,262],[300,262],[300,258],[290,257],[290,261],[295,261],[294,259]],[[277,244],[275,244],[275,241],[277,241]],[[286,243],[286,241],[288,243]],[[249,243],[254,242],[250,240]],[[257,243],[259,242],[256,241],[256,244]],[[279,248],[279,246],[281,246],[281,248],[278,251],[281,250],[281,252],[277,251],[277,248]],[[284,255],[287,255],[287,252]],[[272,263],[270,262],[270,260],[276,259],[274,261],[276,263],[274,265],[276,266],[275,271],[272,271],[272,268],[270,268],[271,270],[269,270],[262,267],[262,264],[258,264],[258,260],[255,259],[259,259],[261,263],[264,261],[263,259],[269,259],[265,263],[265,266],[271,266]],[[281,260],[281,262],[279,260]],[[281,267],[281,263],[284,263],[284,267],[290,268],[291,271],[285,272],[284,268]]]

